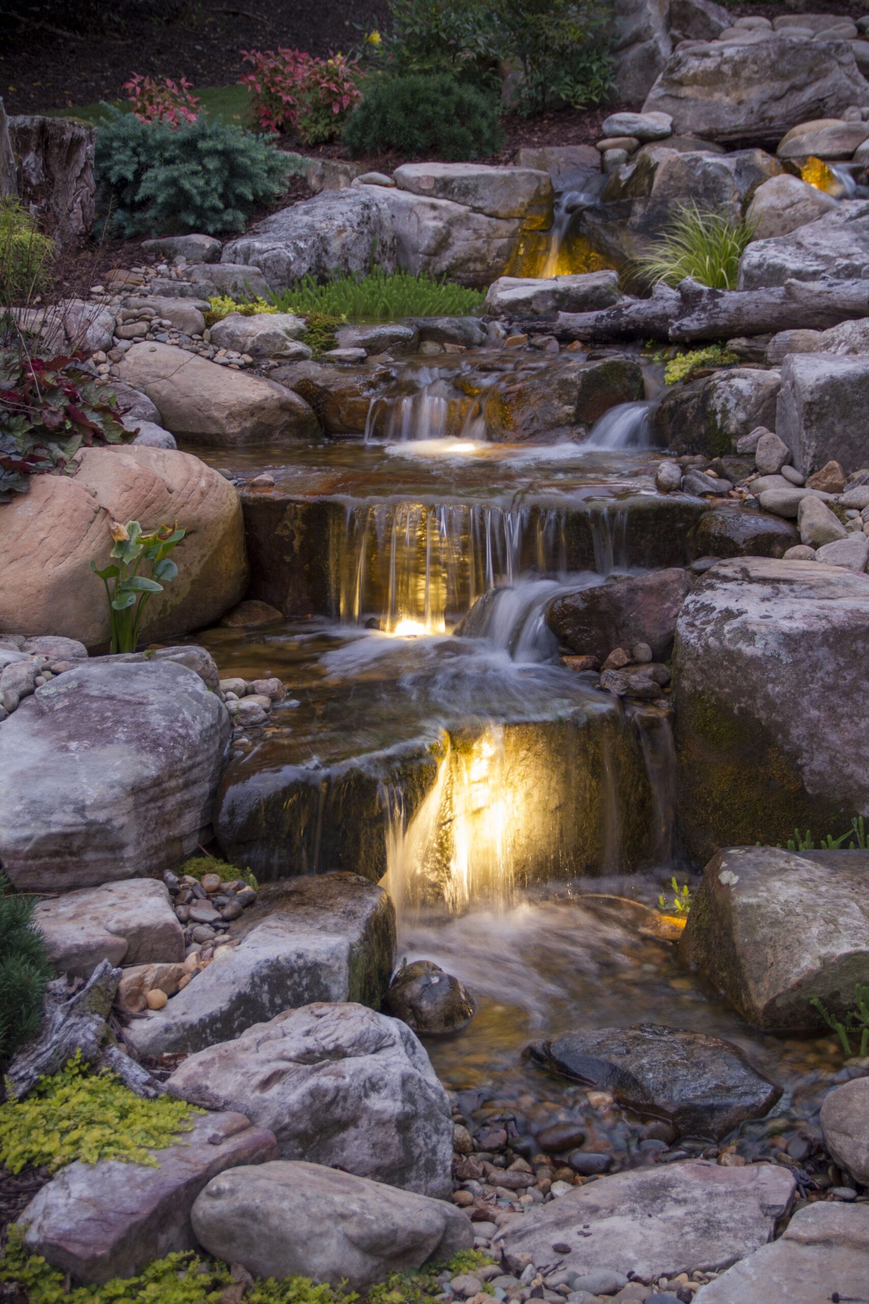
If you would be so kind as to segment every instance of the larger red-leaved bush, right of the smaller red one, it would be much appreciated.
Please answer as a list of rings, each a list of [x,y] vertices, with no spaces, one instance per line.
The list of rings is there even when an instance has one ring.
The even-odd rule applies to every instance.
[[[241,78],[251,111],[267,132],[297,132],[306,145],[340,134],[348,111],[361,99],[356,60],[315,59],[302,50],[242,50],[254,70]]]

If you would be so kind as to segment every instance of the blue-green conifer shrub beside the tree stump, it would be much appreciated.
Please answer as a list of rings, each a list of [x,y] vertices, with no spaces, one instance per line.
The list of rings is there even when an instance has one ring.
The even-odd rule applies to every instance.
[[[167,231],[241,231],[284,189],[292,164],[253,132],[205,115],[176,128],[106,106],[95,172],[125,239]]]

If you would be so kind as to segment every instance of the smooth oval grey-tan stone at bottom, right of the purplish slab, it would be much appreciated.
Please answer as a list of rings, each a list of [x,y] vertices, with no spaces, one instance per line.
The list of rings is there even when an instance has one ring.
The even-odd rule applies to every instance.
[[[474,1243],[470,1221],[447,1201],[288,1161],[221,1174],[197,1198],[192,1222],[205,1249],[254,1277],[310,1277],[360,1292]]]

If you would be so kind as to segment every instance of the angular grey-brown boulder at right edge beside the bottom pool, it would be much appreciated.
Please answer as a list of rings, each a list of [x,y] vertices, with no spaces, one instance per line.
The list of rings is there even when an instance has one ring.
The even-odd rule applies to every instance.
[[[731,846],[706,866],[679,943],[749,1024],[819,1030],[869,982],[868,852]]]

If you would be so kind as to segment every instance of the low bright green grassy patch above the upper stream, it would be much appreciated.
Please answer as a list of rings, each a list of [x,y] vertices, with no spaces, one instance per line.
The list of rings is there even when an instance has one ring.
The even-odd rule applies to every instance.
[[[464,317],[482,308],[482,289],[468,289],[452,282],[435,280],[425,273],[383,271],[375,267],[367,276],[344,273],[319,284],[304,276],[288,289],[272,293],[281,313],[327,313],[340,321],[388,322],[401,317]],[[310,326],[310,323],[309,323]]]

